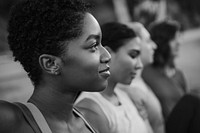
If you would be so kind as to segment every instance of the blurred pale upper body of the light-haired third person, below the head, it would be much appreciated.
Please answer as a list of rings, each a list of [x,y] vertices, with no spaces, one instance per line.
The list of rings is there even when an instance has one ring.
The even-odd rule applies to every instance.
[[[148,119],[155,133],[164,132],[164,118],[160,101],[151,88],[138,76],[131,85],[118,85],[134,102],[143,119]],[[126,88],[124,88],[126,87]]]

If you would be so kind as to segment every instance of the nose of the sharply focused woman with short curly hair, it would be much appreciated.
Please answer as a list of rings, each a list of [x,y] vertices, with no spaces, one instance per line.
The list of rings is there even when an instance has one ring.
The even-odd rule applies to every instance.
[[[100,62],[101,63],[109,63],[111,60],[110,53],[103,46],[101,46],[100,52],[101,52]]]

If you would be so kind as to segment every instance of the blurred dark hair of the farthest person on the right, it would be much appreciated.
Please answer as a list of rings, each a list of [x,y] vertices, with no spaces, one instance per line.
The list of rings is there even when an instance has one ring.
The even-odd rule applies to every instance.
[[[157,44],[154,54],[154,66],[165,66],[171,58],[169,43],[180,30],[180,25],[176,21],[155,22],[149,26],[152,40]]]

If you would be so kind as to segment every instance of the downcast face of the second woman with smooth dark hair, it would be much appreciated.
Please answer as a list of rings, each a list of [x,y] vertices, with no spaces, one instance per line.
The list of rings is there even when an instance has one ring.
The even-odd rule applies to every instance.
[[[124,42],[117,52],[111,52],[111,77],[115,82],[130,84],[139,69],[142,68],[140,59],[141,40],[136,37]]]

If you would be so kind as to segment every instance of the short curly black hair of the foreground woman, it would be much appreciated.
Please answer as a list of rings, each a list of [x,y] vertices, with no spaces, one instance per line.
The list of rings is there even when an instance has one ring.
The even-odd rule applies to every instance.
[[[81,0],[22,0],[11,10],[8,43],[33,84],[39,84],[42,54],[62,56],[64,42],[79,37],[90,5]]]

